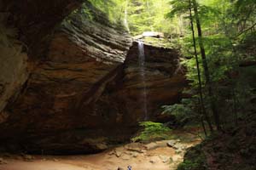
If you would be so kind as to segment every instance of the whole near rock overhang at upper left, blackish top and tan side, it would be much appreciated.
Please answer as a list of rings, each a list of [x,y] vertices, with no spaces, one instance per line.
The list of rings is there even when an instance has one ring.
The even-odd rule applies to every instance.
[[[32,59],[44,57],[49,33],[82,2],[0,0],[0,122],[8,116],[3,108],[20,94],[32,71]]]

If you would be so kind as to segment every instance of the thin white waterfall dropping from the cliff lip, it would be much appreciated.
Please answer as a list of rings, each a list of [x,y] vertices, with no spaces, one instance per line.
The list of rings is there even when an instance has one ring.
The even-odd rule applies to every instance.
[[[145,77],[145,54],[144,44],[142,40],[138,40],[138,62],[141,82],[143,84],[142,100],[143,100],[143,111],[144,121],[148,120],[148,107],[147,107],[147,88],[146,88],[146,77]]]

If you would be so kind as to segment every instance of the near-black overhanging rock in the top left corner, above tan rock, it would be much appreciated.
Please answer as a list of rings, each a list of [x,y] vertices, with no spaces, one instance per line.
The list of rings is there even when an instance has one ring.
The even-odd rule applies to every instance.
[[[81,3],[82,0],[0,0],[0,11],[7,15],[5,24],[18,29],[17,38],[26,43],[31,53],[39,52],[37,47],[43,48],[40,42]]]

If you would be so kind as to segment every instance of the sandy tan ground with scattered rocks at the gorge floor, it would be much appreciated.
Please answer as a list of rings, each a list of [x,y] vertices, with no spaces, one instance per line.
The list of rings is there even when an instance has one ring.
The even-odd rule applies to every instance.
[[[199,140],[131,143],[90,156],[2,156],[0,170],[126,170],[128,165],[132,170],[174,170],[196,143]]]

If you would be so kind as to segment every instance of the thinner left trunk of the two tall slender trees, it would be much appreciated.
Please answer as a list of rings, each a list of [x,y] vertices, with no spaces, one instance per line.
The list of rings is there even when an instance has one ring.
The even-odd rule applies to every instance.
[[[199,82],[199,95],[200,95],[200,105],[201,105],[201,113],[205,117],[208,126],[210,128],[210,131],[213,131],[212,128],[212,122],[210,117],[207,115],[206,107],[204,105],[204,100],[203,100],[203,94],[202,94],[202,86],[201,86],[201,71],[200,71],[200,65],[199,65],[199,60],[197,56],[197,50],[196,50],[196,43],[195,43],[195,31],[194,31],[194,24],[193,24],[193,17],[192,17],[192,9],[191,9],[191,0],[189,0],[189,18],[190,18],[190,25],[191,25],[191,31],[192,31],[192,36],[193,36],[193,46],[194,46],[194,51],[195,51],[195,61],[196,61],[196,69],[197,69],[197,78]],[[203,120],[201,120],[202,126],[204,130],[206,129],[204,126]],[[207,132],[205,130],[205,133],[207,135]]]

